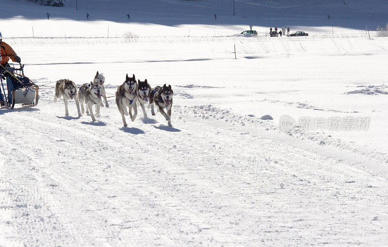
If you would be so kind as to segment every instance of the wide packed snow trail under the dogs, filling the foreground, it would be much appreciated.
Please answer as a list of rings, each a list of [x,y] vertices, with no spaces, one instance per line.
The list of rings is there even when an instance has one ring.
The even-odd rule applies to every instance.
[[[3,114],[5,246],[387,242],[388,169],[379,160],[179,99],[173,127],[158,112],[142,119],[139,108],[122,128],[112,100],[91,123],[74,117],[74,101],[64,117],[52,98],[42,90],[39,109]]]

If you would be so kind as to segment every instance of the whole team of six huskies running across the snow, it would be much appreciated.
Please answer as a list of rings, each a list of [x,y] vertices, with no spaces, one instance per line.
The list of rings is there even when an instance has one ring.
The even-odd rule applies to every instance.
[[[104,75],[98,73],[97,71],[93,81],[82,84],[77,93],[77,86],[73,81],[69,79],[60,79],[55,84],[54,102],[57,102],[59,98],[63,97],[65,103],[65,115],[68,116],[69,111],[67,108],[67,101],[74,98],[78,110],[78,116],[80,117],[84,113],[83,102],[85,102],[86,114],[90,113],[92,121],[95,122],[96,118],[93,114],[92,106],[96,105],[97,115],[100,113],[100,107],[104,107],[102,98],[104,98],[105,106],[109,107],[108,100],[106,99],[104,82]],[[164,84],[162,87],[158,86],[151,88],[147,79],[144,81],[136,81],[135,75],[128,77],[127,74],[124,83],[118,86],[116,91],[116,104],[123,119],[124,126],[128,125],[125,120],[125,116],[129,115],[131,121],[135,121],[137,116],[137,103],[140,104],[144,117],[146,118],[147,114],[145,105],[148,103],[147,108],[151,108],[152,116],[155,116],[155,105],[158,111],[160,111],[164,118],[168,121],[168,126],[171,127],[171,107],[173,105],[173,95],[174,92],[171,89],[171,85],[166,86],[166,84]]]

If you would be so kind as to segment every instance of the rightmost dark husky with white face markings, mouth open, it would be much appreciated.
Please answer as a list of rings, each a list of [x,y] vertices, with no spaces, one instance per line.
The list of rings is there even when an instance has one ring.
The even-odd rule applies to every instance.
[[[174,92],[171,89],[171,85],[166,86],[166,84],[163,85],[163,87],[155,87],[149,92],[149,105],[148,108],[151,108],[153,104],[155,104],[159,109],[159,111],[162,113],[164,118],[168,121],[168,126],[171,125],[171,107],[173,106],[173,95]],[[164,112],[164,108],[167,110],[167,114]],[[152,112],[152,109],[151,109]],[[155,115],[154,112],[152,112],[152,115]]]

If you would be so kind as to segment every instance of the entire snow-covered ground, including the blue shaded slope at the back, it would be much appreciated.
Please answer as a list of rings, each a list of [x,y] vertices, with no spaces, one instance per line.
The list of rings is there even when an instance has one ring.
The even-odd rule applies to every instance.
[[[388,245],[388,39],[365,33],[387,3],[93,2],[0,0],[0,31],[38,85],[171,84],[173,127],[140,108],[123,127],[114,97],[97,122],[74,101],[65,117],[53,84],[0,109],[0,246]],[[265,37],[287,23],[310,36]],[[284,132],[283,115],[370,123]]]

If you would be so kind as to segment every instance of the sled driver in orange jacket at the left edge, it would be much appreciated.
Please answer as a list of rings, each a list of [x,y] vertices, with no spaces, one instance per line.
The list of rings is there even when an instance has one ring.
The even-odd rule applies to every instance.
[[[14,81],[15,78],[9,72],[6,71],[7,67],[9,67],[8,65],[9,59],[11,59],[13,62],[18,62],[18,63],[21,62],[20,57],[16,55],[16,52],[12,49],[12,47],[2,41],[2,36],[0,32],[0,76],[9,77],[12,81]],[[0,88],[0,105],[1,106],[5,105],[4,96],[1,93],[1,88]]]

